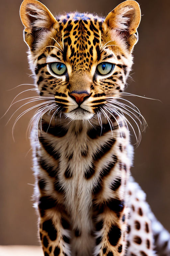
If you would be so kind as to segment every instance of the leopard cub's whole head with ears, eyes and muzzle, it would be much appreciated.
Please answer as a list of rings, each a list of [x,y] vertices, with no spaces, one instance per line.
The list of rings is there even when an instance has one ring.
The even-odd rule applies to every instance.
[[[24,0],[20,13],[40,95],[54,97],[56,109],[73,120],[105,113],[132,65],[138,4],[126,1],[105,20],[82,13],[54,18],[36,0]]]

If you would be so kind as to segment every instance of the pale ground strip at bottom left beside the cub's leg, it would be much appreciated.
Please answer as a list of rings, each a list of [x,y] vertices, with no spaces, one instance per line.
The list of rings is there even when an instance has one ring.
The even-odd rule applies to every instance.
[[[40,246],[0,245],[0,256],[43,256]]]

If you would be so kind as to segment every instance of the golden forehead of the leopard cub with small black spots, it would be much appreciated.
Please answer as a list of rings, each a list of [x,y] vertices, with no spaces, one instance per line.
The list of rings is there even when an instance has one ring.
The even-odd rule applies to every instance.
[[[104,19],[87,13],[70,13],[56,17],[57,40],[63,40],[64,61],[89,70],[92,63],[100,59],[100,44]]]

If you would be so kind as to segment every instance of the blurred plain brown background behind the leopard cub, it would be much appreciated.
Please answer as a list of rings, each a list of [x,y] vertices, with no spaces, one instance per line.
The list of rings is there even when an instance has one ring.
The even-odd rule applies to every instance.
[[[120,0],[42,0],[53,14],[70,11],[96,12],[107,15]],[[19,18],[20,0],[1,1],[1,113],[9,107],[12,99],[22,90],[32,86],[17,85],[33,83],[27,64],[27,45],[23,42],[23,26]],[[147,200],[162,224],[170,230],[170,133],[169,133],[169,0],[139,0],[142,20],[139,42],[134,50],[134,65],[128,92],[160,99],[151,101],[131,98],[141,110],[148,123],[142,134],[141,144],[135,149],[132,174],[144,191]],[[31,92],[24,97],[33,96]],[[37,217],[32,207],[34,177],[31,170],[31,151],[26,139],[28,122],[33,115],[26,114],[16,125],[15,143],[12,126],[17,113],[7,126],[6,122],[21,102],[14,105],[1,119],[0,152],[0,244],[38,244]],[[26,108],[23,108],[25,110]],[[21,113],[21,110],[18,111]],[[29,151],[29,152],[28,152]],[[27,154],[28,153],[28,154]],[[28,184],[29,183],[29,184]]]

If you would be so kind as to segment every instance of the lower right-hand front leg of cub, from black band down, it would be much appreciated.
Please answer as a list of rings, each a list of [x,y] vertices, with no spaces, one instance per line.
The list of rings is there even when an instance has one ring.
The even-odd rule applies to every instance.
[[[99,208],[98,208],[99,207]],[[125,255],[126,207],[124,201],[111,199],[97,206],[95,256]]]

